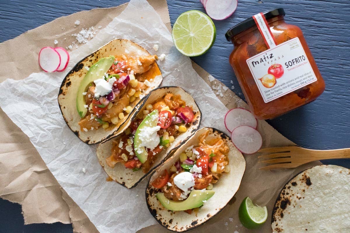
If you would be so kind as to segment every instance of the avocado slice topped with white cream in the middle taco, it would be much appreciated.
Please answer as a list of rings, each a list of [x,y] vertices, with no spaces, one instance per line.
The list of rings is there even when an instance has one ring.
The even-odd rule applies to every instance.
[[[150,114],[146,116],[146,118],[141,122],[139,127],[137,128],[135,132],[135,138],[134,138],[134,149],[135,154],[137,158],[140,160],[141,163],[146,162],[147,160],[147,150],[144,146],[140,146],[141,139],[139,138],[140,132],[145,129],[145,127],[155,127],[158,124],[158,110],[153,110]]]

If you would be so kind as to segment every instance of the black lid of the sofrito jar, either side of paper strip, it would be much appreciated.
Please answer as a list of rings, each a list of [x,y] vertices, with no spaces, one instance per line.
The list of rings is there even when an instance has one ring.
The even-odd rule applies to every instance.
[[[268,11],[264,12],[263,14],[267,20],[271,19],[275,16],[279,16],[279,15],[285,16],[286,15],[283,8],[276,8],[273,10],[268,10]],[[231,38],[233,36],[236,36],[237,34],[241,33],[242,31],[247,30],[248,28],[253,27],[254,25],[256,25],[255,21],[254,21],[253,17],[250,17],[249,19],[246,19],[245,21],[240,22],[236,26],[230,28],[226,32],[225,37],[228,41],[231,41]]]

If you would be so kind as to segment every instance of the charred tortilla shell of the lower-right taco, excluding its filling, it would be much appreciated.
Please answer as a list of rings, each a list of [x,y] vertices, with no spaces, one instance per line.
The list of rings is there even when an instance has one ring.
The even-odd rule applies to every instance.
[[[215,191],[212,196],[198,211],[197,214],[188,214],[184,211],[169,211],[165,209],[158,201],[155,194],[158,192],[152,186],[152,182],[163,172],[164,169],[169,170],[173,164],[179,160],[180,154],[189,146],[198,145],[198,137],[209,130],[207,139],[222,138],[226,145],[228,145],[230,151],[229,166],[230,172],[224,173],[221,179],[214,184],[213,190]],[[245,172],[245,159],[237,148],[231,142],[229,136],[225,133],[214,128],[202,128],[198,130],[193,136],[191,136],[185,144],[178,148],[172,156],[159,166],[148,181],[146,188],[146,201],[149,212],[153,217],[165,228],[170,231],[184,232],[191,230],[204,224],[206,221],[214,217],[219,213],[236,194],[239,185],[241,183],[243,174]]]

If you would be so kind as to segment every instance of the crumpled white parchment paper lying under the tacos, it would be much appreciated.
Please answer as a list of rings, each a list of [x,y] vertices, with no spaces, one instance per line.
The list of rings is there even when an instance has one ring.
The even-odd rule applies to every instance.
[[[176,50],[170,32],[145,0],[131,0],[124,12],[90,42],[70,52],[66,71],[33,73],[19,81],[8,77],[0,84],[0,107],[27,134],[59,184],[101,233],[135,232],[156,223],[145,202],[146,181],[131,190],[106,182],[96,158],[96,146],[84,144],[70,131],[57,103],[66,73],[87,54],[115,38],[130,39],[152,54],[166,54],[165,60],[158,61],[164,78],[162,86],[187,90],[202,111],[202,126],[226,131],[224,114],[215,113],[226,112],[227,108],[193,70],[190,59]],[[154,44],[159,45],[157,52],[152,49]]]

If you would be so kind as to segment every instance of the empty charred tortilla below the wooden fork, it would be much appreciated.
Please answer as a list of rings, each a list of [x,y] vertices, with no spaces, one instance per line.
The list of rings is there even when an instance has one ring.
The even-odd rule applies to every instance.
[[[282,189],[272,213],[273,233],[350,231],[350,169],[311,167]]]

